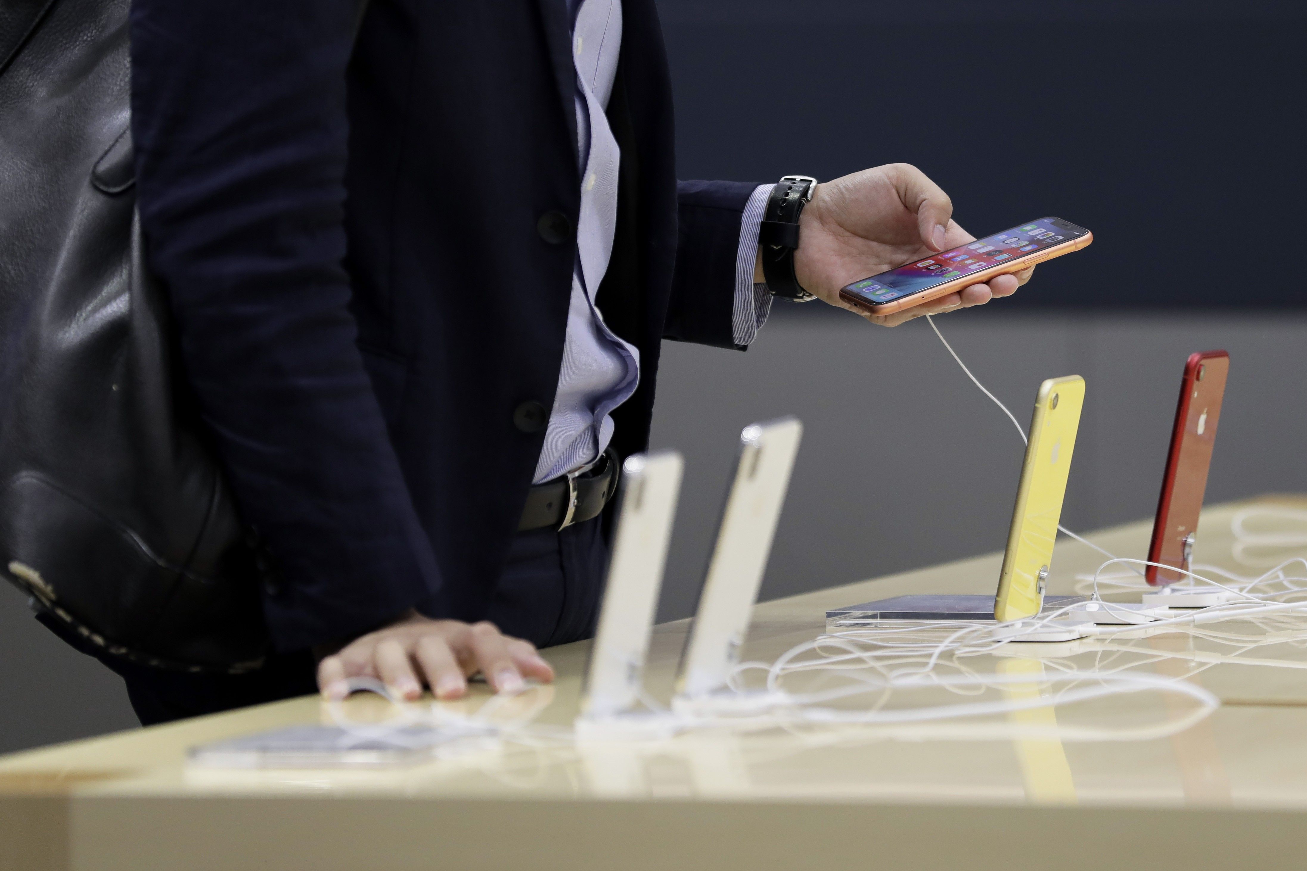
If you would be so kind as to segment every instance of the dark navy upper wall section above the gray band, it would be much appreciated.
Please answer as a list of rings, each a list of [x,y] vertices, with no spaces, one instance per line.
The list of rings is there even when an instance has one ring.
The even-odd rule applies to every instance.
[[[682,179],[903,161],[976,235],[1048,214],[1094,231],[1012,308],[1307,300],[1300,0],[659,8]]]

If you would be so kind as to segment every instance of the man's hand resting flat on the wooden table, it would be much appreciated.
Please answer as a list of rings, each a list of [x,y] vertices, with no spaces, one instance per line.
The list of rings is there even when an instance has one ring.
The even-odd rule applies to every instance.
[[[525,678],[550,682],[554,670],[531,641],[503,635],[493,623],[431,620],[410,611],[346,644],[318,663],[318,688],[328,699],[349,695],[348,678],[376,678],[404,699],[459,699],[468,678],[482,673],[495,692],[520,689]]]

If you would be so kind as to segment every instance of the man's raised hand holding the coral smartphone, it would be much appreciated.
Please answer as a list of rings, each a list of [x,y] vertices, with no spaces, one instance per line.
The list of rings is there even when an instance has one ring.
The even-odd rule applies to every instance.
[[[948,195],[907,163],[877,166],[818,184],[799,219],[795,277],[801,287],[831,306],[882,326],[983,306],[995,296],[1010,296],[1030,281],[1034,266],[893,315],[870,315],[839,298],[839,289],[859,278],[972,242],[975,236],[951,214]]]

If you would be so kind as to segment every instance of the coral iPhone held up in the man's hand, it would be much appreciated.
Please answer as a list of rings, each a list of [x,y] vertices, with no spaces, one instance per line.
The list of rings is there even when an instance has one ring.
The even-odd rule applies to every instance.
[[[1093,240],[1094,234],[1068,221],[1039,218],[855,281],[843,287],[839,296],[873,315],[893,315],[997,276],[1069,255]]]

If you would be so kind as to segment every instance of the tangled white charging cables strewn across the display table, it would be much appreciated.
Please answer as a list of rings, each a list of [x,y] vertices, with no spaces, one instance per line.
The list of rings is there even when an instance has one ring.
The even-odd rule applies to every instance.
[[[1022,441],[1027,441],[1025,430],[1012,411],[971,373],[940,333],[933,319],[927,316],[927,321],[972,384],[1012,420]],[[1239,512],[1233,522],[1233,531],[1236,542],[1235,558],[1240,562],[1251,564],[1248,559],[1242,559],[1251,548],[1307,547],[1307,530],[1256,531],[1249,528],[1251,520],[1264,520],[1268,515],[1281,522],[1287,520],[1307,525],[1307,511],[1248,508]],[[710,712],[690,716],[676,713],[674,709],[667,710],[656,700],[642,695],[640,700],[650,713],[631,716],[650,716],[660,722],[672,723],[673,731],[759,727],[795,731],[844,727],[844,731],[839,733],[840,740],[847,739],[847,730],[851,727],[856,727],[856,735],[873,740],[885,738],[1146,740],[1183,731],[1219,706],[1219,700],[1212,692],[1185,680],[1184,676],[1192,676],[1221,662],[1307,669],[1307,661],[1243,656],[1249,650],[1274,644],[1307,648],[1307,577],[1287,572],[1294,565],[1307,571],[1307,560],[1297,556],[1283,559],[1263,575],[1252,577],[1238,576],[1212,565],[1196,565],[1195,569],[1200,569],[1201,573],[1182,572],[1185,578],[1172,585],[1172,589],[1214,586],[1226,590],[1231,601],[1210,607],[1187,609],[1183,612],[1174,612],[1172,609],[1171,614],[1142,627],[1133,623],[1116,626],[1073,623],[1076,612],[1084,612],[1090,606],[1108,612],[1114,607],[1120,607],[1104,601],[1102,598],[1104,593],[1150,589],[1141,569],[1145,565],[1159,564],[1114,556],[1064,526],[1059,526],[1059,530],[1108,558],[1091,576],[1080,578],[1078,592],[1091,594],[1089,603],[1067,605],[1033,619],[1008,624],[941,622],[821,635],[795,645],[774,662],[741,662],[736,666],[728,687],[723,691],[725,701],[729,703],[732,699],[761,701],[737,706],[723,705],[720,710],[731,712],[729,714]],[[1108,572],[1111,567],[1128,567],[1129,573]],[[1162,568],[1179,571],[1170,565]],[[1213,580],[1210,576],[1221,580]],[[1257,635],[1213,628],[1219,623],[1251,624]],[[1067,656],[1093,654],[1091,667],[1060,662],[1056,656],[1040,657],[1036,653],[1031,653],[1030,657],[1013,656],[1014,648],[1010,645],[1040,637],[1040,633],[1051,627],[1070,624],[1077,627],[1077,635],[1085,639],[1087,646],[1069,650]],[[1129,641],[1140,637],[1141,632],[1148,636],[1163,632],[1187,633],[1191,639],[1234,650],[1222,653],[1132,646]],[[1029,665],[1012,671],[1004,671],[1002,667],[999,671],[978,671],[968,665],[975,657],[984,654],[1006,656],[1009,662],[1033,662],[1038,673],[1031,671]],[[1132,656],[1134,659],[1129,658]],[[1189,662],[1191,671],[1183,676],[1172,676],[1140,670],[1162,661]],[[766,673],[761,688],[749,686],[748,675],[754,671]],[[808,686],[791,688],[800,675]],[[333,704],[331,710],[337,725],[354,735],[387,738],[421,729],[452,729],[460,734],[493,734],[507,742],[535,747],[569,744],[576,739],[575,730],[532,722],[545,701],[528,704],[524,712],[514,717],[497,716],[511,700],[521,693],[533,692],[529,686],[521,693],[494,696],[469,716],[454,713],[438,703],[427,709],[408,705],[391,696],[378,682],[354,682],[354,688],[378,692],[401,709],[399,717],[386,723],[358,723],[345,717],[339,703]],[[897,693],[931,691],[944,691],[953,697],[968,699],[919,706],[890,705]],[[1033,723],[1009,717],[1023,710],[1053,709],[1140,692],[1178,695],[1195,704],[1189,710],[1170,716],[1161,722],[1124,723],[1112,727],[1064,722]],[[989,697],[984,697],[987,695]],[[859,701],[860,699],[864,701]],[[1171,710],[1170,705],[1167,710]],[[630,734],[639,733],[635,730]]]

